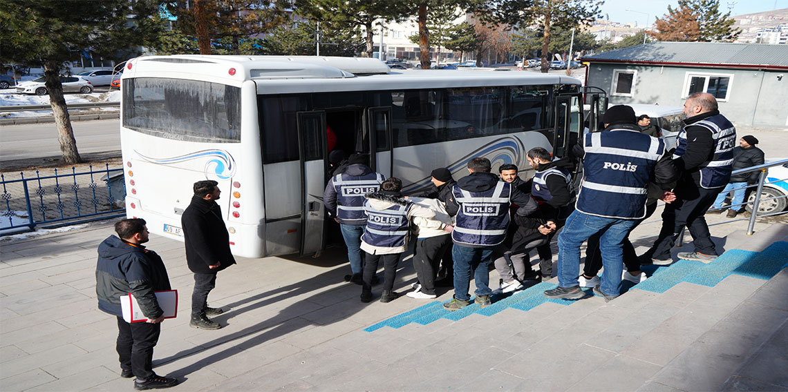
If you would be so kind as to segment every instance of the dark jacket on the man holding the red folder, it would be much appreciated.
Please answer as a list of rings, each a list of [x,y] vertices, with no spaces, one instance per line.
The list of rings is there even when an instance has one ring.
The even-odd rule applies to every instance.
[[[162,257],[145,246],[134,246],[110,235],[99,245],[96,297],[99,309],[123,316],[121,296],[131,293],[149,319],[162,316],[154,291],[170,290]]]

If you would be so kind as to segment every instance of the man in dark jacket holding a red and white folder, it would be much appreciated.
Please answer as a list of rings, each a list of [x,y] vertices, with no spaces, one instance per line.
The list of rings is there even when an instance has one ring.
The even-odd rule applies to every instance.
[[[99,309],[117,316],[117,354],[121,361],[121,377],[136,376],[134,389],[169,388],[177,379],[161,377],[153,372],[153,348],[158,342],[164,312],[156,301],[156,291],[170,290],[167,270],[159,257],[142,244],[148,241],[145,220],[125,219],[115,224],[117,236],[110,235],[99,245],[96,264],[96,295]],[[132,294],[145,322],[123,320],[121,297]]]

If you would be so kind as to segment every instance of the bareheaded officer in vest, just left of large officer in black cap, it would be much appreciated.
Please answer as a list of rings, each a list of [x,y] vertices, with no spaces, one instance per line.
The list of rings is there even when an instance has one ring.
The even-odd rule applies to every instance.
[[[567,166],[573,166],[571,160],[552,161],[552,156],[542,147],[533,147],[526,153],[529,165],[536,171],[530,180],[531,197],[539,203],[545,220],[556,226],[556,231],[563,227],[567,216],[574,209],[574,190],[571,188],[572,176]],[[539,269],[542,280],[552,277],[552,250],[550,242],[553,231],[548,235],[545,245],[537,247],[539,253]]]

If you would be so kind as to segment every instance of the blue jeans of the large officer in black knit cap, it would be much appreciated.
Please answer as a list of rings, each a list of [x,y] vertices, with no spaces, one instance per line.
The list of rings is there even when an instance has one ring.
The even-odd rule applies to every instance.
[[[602,278],[600,289],[605,295],[616,296],[621,291],[623,273],[623,241],[640,220],[603,218],[575,210],[567,218],[567,225],[558,235],[558,284],[560,287],[578,286],[580,276],[580,246],[592,235],[602,232]]]

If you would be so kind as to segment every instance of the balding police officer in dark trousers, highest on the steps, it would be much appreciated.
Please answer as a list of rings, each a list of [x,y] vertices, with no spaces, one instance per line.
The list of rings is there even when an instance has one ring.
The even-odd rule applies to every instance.
[[[673,153],[682,172],[674,190],[676,201],[665,205],[660,235],[641,256],[641,264],[671,264],[671,248],[683,227],[689,229],[695,251],[678,253],[678,258],[707,263],[717,258],[704,213],[730,179],[736,128],[719,114],[712,94],[690,95],[684,102],[684,113],[686,125],[678,134]]]

